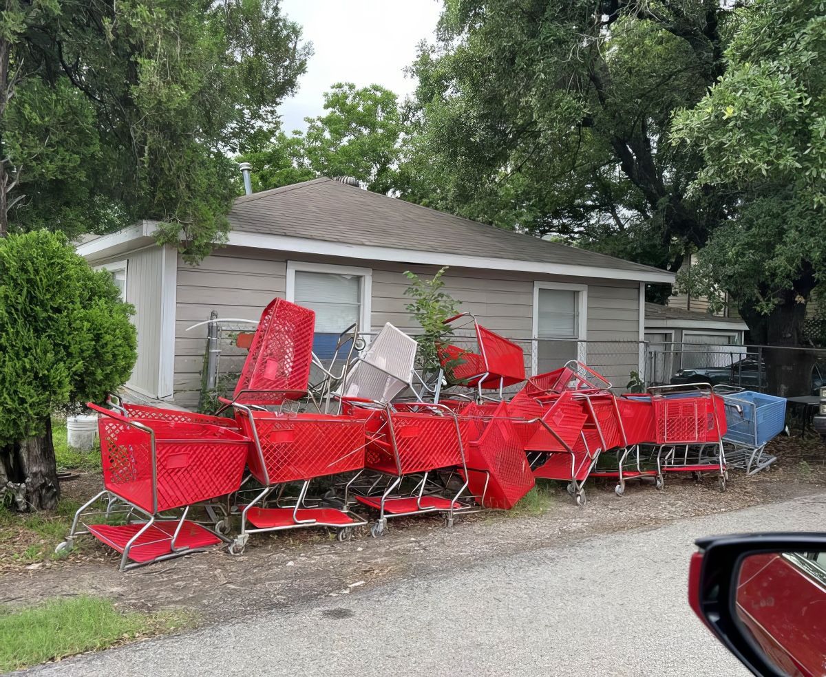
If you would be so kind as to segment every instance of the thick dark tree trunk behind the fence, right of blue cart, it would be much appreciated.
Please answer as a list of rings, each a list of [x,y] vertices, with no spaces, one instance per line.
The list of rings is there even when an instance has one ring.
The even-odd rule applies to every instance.
[[[803,346],[805,317],[806,304],[798,302],[795,291],[784,292],[781,303],[768,316],[769,347],[764,348],[763,359],[771,395],[795,397],[812,394],[812,369],[817,353]]]

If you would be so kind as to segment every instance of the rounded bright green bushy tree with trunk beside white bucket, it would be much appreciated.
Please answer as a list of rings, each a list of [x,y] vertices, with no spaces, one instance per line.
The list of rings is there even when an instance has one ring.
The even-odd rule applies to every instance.
[[[102,400],[136,358],[131,305],[64,234],[0,239],[0,494],[21,509],[55,508],[59,482],[50,417]]]

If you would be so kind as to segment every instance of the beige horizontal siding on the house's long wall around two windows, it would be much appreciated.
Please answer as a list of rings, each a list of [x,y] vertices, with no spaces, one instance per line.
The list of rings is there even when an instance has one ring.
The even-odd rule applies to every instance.
[[[175,402],[197,405],[206,348],[207,327],[186,328],[209,319],[211,310],[220,317],[257,320],[275,296],[286,294],[287,258],[309,263],[372,268],[371,326],[375,333],[390,322],[415,332],[417,326],[405,306],[404,292],[411,270],[430,277],[434,266],[374,262],[312,254],[287,255],[256,249],[227,248],[207,257],[197,267],[178,260],[178,297],[175,323]],[[573,282],[588,285],[587,332],[594,343],[589,363],[624,386],[632,369],[638,368],[637,282],[537,276],[525,272],[487,271],[452,267],[444,276],[445,291],[460,301],[459,311],[469,310],[489,329],[515,340],[531,365],[534,282]],[[469,329],[469,328],[468,328]],[[628,342],[628,343],[617,343]],[[610,348],[609,348],[610,346]],[[589,353],[591,348],[589,348]],[[222,356],[221,372],[225,372]],[[237,359],[236,359],[237,363]],[[625,378],[626,381],[622,381]],[[620,381],[622,381],[620,383]]]

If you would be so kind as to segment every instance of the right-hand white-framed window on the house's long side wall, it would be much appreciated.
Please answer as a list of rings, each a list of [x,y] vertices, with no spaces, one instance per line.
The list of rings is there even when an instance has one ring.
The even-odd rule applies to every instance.
[[[586,359],[586,285],[534,283],[534,373]]]

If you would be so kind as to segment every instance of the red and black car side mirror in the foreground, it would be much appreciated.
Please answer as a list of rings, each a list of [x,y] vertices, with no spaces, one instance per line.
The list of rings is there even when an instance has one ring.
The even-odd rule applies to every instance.
[[[691,608],[755,675],[826,675],[826,534],[697,541]]]

